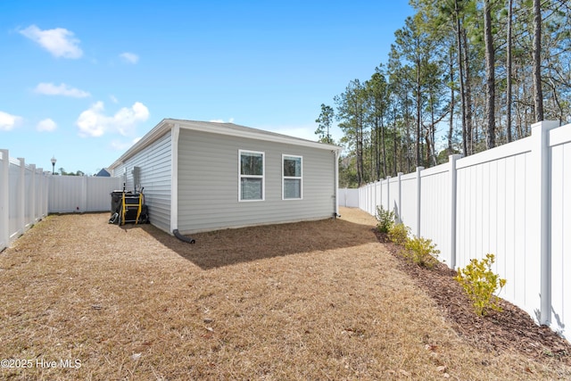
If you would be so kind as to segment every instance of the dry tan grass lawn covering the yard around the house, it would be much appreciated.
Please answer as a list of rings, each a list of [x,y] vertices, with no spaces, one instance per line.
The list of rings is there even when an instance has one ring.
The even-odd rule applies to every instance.
[[[561,364],[463,342],[377,242],[375,220],[341,214],[203,233],[194,245],[150,225],[108,225],[107,213],[50,216],[0,253],[0,359],[32,365],[0,375],[571,377]]]

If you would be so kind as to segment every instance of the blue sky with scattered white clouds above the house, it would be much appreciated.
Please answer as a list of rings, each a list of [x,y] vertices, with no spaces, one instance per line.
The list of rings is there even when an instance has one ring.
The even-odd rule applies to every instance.
[[[320,104],[370,78],[412,13],[405,0],[0,0],[0,148],[93,174],[164,118],[314,140]]]

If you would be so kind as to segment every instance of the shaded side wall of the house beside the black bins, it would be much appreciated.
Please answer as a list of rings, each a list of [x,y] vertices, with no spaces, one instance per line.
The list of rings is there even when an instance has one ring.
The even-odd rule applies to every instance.
[[[140,168],[140,185],[145,187],[145,203],[149,207],[151,222],[165,231],[170,231],[170,148],[171,134],[168,131],[113,170],[113,176],[123,177],[127,190],[133,190],[133,168]]]

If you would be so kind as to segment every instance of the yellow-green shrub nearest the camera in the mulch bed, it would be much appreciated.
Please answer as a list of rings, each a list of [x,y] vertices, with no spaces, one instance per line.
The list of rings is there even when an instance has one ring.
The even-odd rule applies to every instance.
[[[494,260],[493,254],[486,254],[481,261],[470,260],[464,269],[458,269],[458,275],[454,277],[472,300],[478,316],[483,316],[489,308],[501,311],[497,303],[499,298],[495,294],[506,286],[506,279],[493,273]]]

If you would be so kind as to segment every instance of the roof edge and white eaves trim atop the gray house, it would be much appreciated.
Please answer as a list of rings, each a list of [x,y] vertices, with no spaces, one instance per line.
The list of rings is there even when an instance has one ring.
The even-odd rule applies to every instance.
[[[337,145],[327,145],[325,143],[314,142],[300,137],[289,137],[276,132],[265,131],[263,129],[240,126],[234,123],[219,123],[214,121],[197,121],[197,120],[177,120],[163,119],[153,129],[151,129],[144,137],[139,139],[135,145],[132,145],[127,152],[123,153],[119,159],[112,163],[110,170],[117,168],[122,162],[127,161],[130,157],[137,154],[145,147],[152,145],[171,128],[178,126],[182,129],[190,129],[194,131],[210,132],[212,134],[246,137],[251,139],[266,140],[270,142],[285,143],[290,145],[302,145],[319,149],[327,149],[340,152],[341,147]]]

